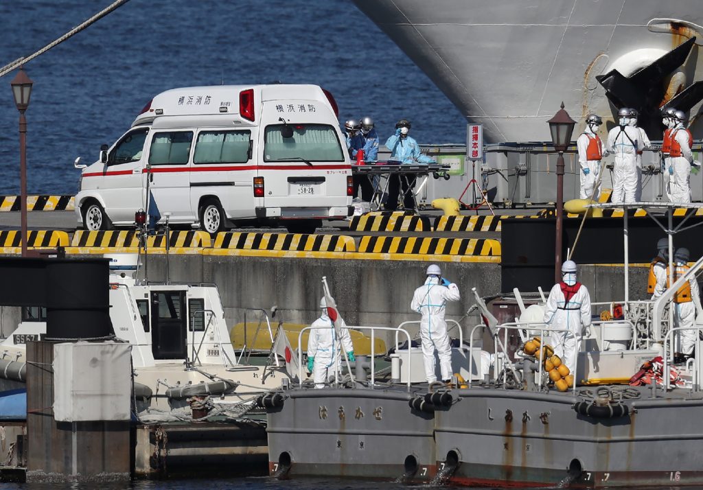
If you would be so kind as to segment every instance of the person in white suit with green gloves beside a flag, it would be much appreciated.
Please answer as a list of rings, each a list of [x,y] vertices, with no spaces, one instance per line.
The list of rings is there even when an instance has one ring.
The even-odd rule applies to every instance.
[[[342,377],[341,349],[347,353],[349,362],[356,361],[352,337],[349,336],[347,325],[342,320],[342,328],[337,335],[335,323],[327,314],[327,300],[320,299],[322,315],[310,325],[308,337],[308,370],[313,373],[316,388],[324,388],[330,378],[335,380]],[[316,328],[324,327],[324,328]],[[341,347],[340,347],[341,342]]]

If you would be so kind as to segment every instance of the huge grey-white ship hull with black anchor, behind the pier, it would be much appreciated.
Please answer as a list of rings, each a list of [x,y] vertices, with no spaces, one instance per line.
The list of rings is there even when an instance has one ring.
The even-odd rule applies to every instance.
[[[703,79],[700,0],[354,0],[465,115],[486,141],[545,141],[564,101],[583,129],[595,112],[612,127],[614,105],[596,77],[629,77],[698,36],[664,79],[661,106]],[[679,25],[683,20],[693,25]],[[695,138],[700,104],[690,114]],[[651,136],[651,135],[650,135]]]

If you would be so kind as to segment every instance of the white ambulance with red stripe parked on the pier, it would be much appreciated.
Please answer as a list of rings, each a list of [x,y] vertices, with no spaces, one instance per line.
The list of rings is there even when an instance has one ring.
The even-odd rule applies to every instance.
[[[132,226],[140,209],[209,233],[238,221],[312,232],[353,212],[332,95],[315,85],[198,86],[159,94],[82,169],[79,226]]]

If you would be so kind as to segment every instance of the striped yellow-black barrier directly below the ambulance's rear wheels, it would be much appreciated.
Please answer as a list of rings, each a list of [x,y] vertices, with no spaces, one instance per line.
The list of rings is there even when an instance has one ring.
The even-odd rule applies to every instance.
[[[300,233],[217,233],[214,248],[228,250],[271,250],[278,252],[354,252],[354,238],[344,235]]]

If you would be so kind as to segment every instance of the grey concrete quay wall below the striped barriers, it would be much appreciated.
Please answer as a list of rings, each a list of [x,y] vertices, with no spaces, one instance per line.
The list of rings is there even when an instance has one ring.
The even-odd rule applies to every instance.
[[[172,257],[169,270],[172,281],[217,284],[230,328],[244,320],[245,309],[268,310],[273,305],[278,306],[276,318],[311,323],[319,316],[323,276],[327,277],[347,324],[390,327],[420,319],[410,311],[410,302],[415,288],[425,281],[427,265],[380,260],[179,255]],[[444,276],[459,285],[462,294],[459,302],[448,304],[447,318],[458,320],[472,306],[472,287],[482,296],[500,291],[499,264],[452,262],[440,266]],[[165,279],[164,257],[150,257],[149,278]],[[416,328],[411,330],[413,334]]]

